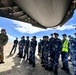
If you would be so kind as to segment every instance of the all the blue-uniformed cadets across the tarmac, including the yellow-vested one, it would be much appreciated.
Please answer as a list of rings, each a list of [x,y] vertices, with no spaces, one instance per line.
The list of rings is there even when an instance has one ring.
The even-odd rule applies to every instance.
[[[76,33],[75,33],[76,36]],[[71,55],[71,61],[73,64],[74,75],[76,75],[76,38],[68,36],[69,40],[67,40],[67,35],[62,35],[63,39],[59,39],[59,34],[54,33],[51,34],[51,37],[43,36],[43,39],[40,39],[38,43],[38,55],[41,59],[42,67],[45,70],[53,71],[54,74],[58,75],[58,67],[59,67],[59,58],[61,55],[62,67],[61,69],[64,70],[67,74],[70,74],[69,64],[68,64],[68,56]],[[19,44],[18,49],[18,56],[29,61],[33,67],[35,67],[35,52],[36,52],[36,36],[33,36],[31,41],[29,40],[29,36],[26,37],[22,36],[21,40],[18,42],[18,38],[16,38],[16,44],[14,47],[17,47]],[[14,48],[12,48],[13,50]],[[16,49],[16,48],[15,48]],[[12,50],[10,54],[12,53]],[[14,52],[15,53],[15,52]],[[27,56],[26,56],[27,55]]]

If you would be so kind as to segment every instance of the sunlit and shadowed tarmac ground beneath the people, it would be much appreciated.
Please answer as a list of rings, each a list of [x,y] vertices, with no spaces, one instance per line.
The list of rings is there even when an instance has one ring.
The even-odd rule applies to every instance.
[[[4,64],[0,64],[0,75],[54,75],[53,72],[45,70],[40,64],[40,58],[36,52],[36,67],[29,65],[28,61],[23,60],[17,56],[18,49],[15,55],[9,55],[12,48],[12,43],[8,43],[4,48]],[[68,75],[65,71],[60,69],[61,59],[59,59],[58,75]],[[69,62],[71,75],[73,75],[72,63]]]

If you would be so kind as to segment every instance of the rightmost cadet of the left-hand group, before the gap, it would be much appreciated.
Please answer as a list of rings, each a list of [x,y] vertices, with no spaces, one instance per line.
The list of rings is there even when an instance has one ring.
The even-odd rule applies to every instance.
[[[30,46],[30,57],[29,57],[29,64],[32,64],[33,67],[35,67],[36,46],[37,46],[36,36],[33,36]]]

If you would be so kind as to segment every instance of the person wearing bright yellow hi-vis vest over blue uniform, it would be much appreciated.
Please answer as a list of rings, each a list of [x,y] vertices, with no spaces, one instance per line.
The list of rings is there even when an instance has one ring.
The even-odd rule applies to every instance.
[[[70,73],[69,71],[69,64],[68,64],[68,52],[69,52],[69,41],[67,40],[67,35],[63,34],[63,40],[62,40],[62,63],[63,66],[61,67],[62,70],[64,70],[66,73]]]

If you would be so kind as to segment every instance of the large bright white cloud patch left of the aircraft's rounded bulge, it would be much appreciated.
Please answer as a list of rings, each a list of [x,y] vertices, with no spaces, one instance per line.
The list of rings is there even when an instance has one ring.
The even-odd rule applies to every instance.
[[[33,33],[37,33],[40,31],[45,31],[45,29],[34,27],[29,23],[19,22],[19,21],[15,21],[15,20],[13,20],[13,23],[16,25],[15,29],[18,30],[20,33],[33,34]]]

